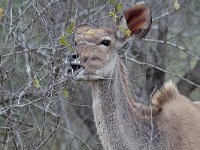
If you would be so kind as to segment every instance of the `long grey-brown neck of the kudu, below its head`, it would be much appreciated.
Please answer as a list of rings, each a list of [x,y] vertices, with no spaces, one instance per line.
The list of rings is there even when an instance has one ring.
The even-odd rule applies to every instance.
[[[108,79],[92,83],[94,119],[104,149],[131,150],[132,144],[142,144],[138,141],[140,131],[142,134],[138,131],[138,111],[129,90],[126,69],[119,58]]]

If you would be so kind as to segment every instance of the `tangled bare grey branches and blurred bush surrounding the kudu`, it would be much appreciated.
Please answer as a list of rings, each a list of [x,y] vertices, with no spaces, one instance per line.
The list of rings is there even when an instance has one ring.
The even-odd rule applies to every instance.
[[[132,91],[148,105],[173,80],[200,100],[200,1],[144,0],[152,10],[145,39],[119,51]],[[112,28],[139,0],[0,1],[0,149],[101,150],[90,87],[66,76],[73,29]]]

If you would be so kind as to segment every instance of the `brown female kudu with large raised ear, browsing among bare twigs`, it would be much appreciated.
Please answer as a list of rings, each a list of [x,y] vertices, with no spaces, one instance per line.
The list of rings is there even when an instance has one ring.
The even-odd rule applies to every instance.
[[[94,119],[104,149],[200,150],[199,104],[181,95],[172,82],[154,94],[151,106],[132,98],[117,50],[146,36],[150,8],[137,3],[122,20],[130,35],[120,29],[77,27],[76,54],[68,56],[75,79],[91,84]]]

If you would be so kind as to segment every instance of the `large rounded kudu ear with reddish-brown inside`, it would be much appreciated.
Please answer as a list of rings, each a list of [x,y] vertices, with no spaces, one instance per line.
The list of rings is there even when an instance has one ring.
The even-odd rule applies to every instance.
[[[124,13],[118,26],[117,37],[122,41],[143,38],[149,32],[151,23],[150,7],[139,2]]]

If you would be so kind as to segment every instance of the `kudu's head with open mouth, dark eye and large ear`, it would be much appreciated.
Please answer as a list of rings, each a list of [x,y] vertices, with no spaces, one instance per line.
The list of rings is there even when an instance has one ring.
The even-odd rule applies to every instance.
[[[140,2],[129,8],[114,29],[80,26],[75,30],[75,53],[68,55],[76,79],[110,77],[118,61],[117,50],[129,40],[143,38],[151,27],[151,12]]]

